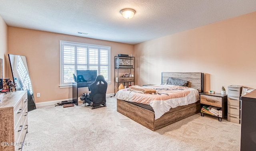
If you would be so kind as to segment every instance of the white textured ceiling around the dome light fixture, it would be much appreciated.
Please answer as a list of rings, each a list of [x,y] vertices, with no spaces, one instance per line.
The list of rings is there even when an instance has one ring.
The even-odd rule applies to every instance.
[[[255,6],[256,0],[0,0],[0,16],[9,26],[136,44],[255,12]],[[123,8],[136,14],[125,19]]]

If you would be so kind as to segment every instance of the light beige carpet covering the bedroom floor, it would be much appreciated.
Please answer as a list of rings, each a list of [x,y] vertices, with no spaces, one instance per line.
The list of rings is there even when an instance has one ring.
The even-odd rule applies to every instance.
[[[116,99],[92,110],[46,106],[28,114],[22,151],[240,151],[240,124],[200,114],[157,131],[116,112]]]

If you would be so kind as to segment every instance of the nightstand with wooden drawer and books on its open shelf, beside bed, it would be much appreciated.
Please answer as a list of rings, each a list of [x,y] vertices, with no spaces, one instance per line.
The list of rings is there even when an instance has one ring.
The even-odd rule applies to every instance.
[[[221,93],[200,93],[201,116],[204,114],[218,117],[221,122],[222,118],[227,116],[227,95]],[[208,111],[208,112],[207,112]]]

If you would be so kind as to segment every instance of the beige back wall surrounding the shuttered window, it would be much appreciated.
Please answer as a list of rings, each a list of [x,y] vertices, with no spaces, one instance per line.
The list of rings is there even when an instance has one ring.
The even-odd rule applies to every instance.
[[[60,40],[110,46],[112,83],[107,93],[114,93],[114,56],[133,54],[134,45],[8,26],[8,53],[26,56],[34,93],[40,93],[36,103],[72,98],[72,88],[59,88]]]

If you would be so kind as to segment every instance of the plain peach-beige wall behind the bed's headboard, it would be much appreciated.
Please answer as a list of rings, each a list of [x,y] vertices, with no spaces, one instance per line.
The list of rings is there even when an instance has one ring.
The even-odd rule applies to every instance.
[[[256,88],[256,12],[134,47],[136,84],[160,84],[161,72],[206,73],[206,89]]]

